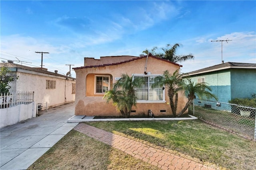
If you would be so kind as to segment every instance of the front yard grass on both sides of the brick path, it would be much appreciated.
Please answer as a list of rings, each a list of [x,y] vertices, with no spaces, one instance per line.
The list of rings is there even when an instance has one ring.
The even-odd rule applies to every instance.
[[[200,120],[87,124],[219,169],[254,170],[256,167],[256,142]],[[72,130],[28,169],[158,168]]]

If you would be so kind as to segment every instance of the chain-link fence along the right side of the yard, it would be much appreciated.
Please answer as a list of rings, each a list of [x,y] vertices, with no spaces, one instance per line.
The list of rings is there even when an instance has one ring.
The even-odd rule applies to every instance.
[[[209,100],[194,100],[189,113],[209,123],[256,140],[256,108]]]

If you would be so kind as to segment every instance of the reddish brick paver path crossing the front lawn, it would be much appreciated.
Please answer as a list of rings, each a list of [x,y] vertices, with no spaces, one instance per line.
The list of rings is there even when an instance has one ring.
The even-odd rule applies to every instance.
[[[214,168],[204,166],[163,150],[155,149],[143,143],[98,129],[85,123],[78,124],[74,129],[116,149],[122,150],[135,158],[158,166],[163,170],[214,170]]]

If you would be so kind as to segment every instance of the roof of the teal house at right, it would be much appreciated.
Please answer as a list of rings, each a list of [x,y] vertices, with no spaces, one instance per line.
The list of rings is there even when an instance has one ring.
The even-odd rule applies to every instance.
[[[223,64],[218,64],[206,68],[202,68],[200,70],[188,72],[184,74],[184,76],[192,76],[196,74],[202,74],[206,72],[212,72],[212,71],[217,71],[217,70],[225,70],[225,69],[230,69],[230,68],[251,68],[251,69],[256,69],[256,64],[254,63],[233,63],[233,62],[227,62]]]

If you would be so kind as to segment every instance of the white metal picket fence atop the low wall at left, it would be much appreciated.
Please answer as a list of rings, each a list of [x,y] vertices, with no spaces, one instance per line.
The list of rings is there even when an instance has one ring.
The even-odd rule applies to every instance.
[[[0,100],[0,109],[17,106],[19,104],[30,104],[34,102],[34,92],[1,93]]]

